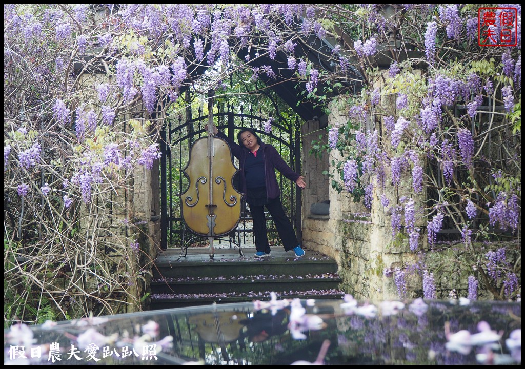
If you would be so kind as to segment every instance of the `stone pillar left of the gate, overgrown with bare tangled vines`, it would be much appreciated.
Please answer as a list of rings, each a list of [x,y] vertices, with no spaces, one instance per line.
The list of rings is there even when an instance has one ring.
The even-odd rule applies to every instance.
[[[92,98],[95,87],[107,76],[96,72],[83,72],[79,77],[79,91],[86,91]],[[91,109],[91,108],[86,108]],[[100,108],[93,107],[95,111]],[[124,142],[131,137],[135,129],[149,129],[145,124],[147,114],[139,102],[127,112],[117,115],[116,121],[109,128],[113,135],[109,141],[105,136],[88,143],[90,150],[103,161],[103,150],[109,142]],[[144,117],[144,118],[140,118]],[[133,126],[133,122],[141,125]],[[153,124],[153,126],[156,126]],[[150,132],[157,136],[154,129]],[[104,140],[104,141],[103,141]],[[123,149],[119,146],[119,150]],[[121,152],[122,159],[130,152]],[[135,159],[140,151],[135,151]],[[80,206],[79,232],[86,238],[86,259],[82,260],[92,275],[86,275],[87,292],[99,291],[99,298],[104,300],[106,310],[113,313],[125,313],[144,310],[141,301],[149,289],[153,259],[160,250],[160,199],[159,199],[159,162],[154,169],[148,170],[137,165],[133,173],[125,168],[117,168],[110,163],[104,167],[104,174],[112,180],[97,184],[98,191],[93,193],[91,203]],[[132,245],[137,245],[132,247]],[[97,275],[110,281],[111,286],[100,286]],[[89,301],[84,302],[89,306]],[[93,309],[96,311],[96,307]]]

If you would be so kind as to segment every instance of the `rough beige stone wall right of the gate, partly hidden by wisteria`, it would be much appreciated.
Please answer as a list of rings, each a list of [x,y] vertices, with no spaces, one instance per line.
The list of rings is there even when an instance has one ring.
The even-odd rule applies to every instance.
[[[382,101],[382,103],[388,106],[392,102]],[[340,101],[334,104],[341,106]],[[346,114],[338,113],[337,108],[331,111],[328,118],[329,126],[346,123],[348,119]],[[310,147],[308,140],[311,136],[308,130],[312,128],[312,124],[309,122],[303,127],[305,135],[303,165],[316,167],[318,172],[329,170],[335,173],[336,168],[331,162],[332,159],[335,163],[342,159],[339,152],[331,151],[328,160],[321,162],[307,155]],[[376,126],[379,124],[382,122],[375,122]],[[326,137],[326,130],[324,134]],[[318,139],[318,134],[313,135],[313,138]],[[386,185],[382,189],[377,189],[377,186],[374,186],[371,210],[366,209],[362,203],[354,203],[348,194],[338,193],[328,181],[323,181],[321,185],[328,188],[330,215],[323,217],[310,214],[309,204],[316,201],[316,198],[308,199],[309,193],[305,191],[304,204],[307,206],[303,206],[302,220],[304,247],[335,258],[342,279],[341,289],[351,293],[355,298],[378,300],[398,298],[393,278],[385,277],[383,269],[412,265],[416,261],[416,254],[410,251],[406,239],[403,242],[394,242],[390,215],[385,213],[380,195],[385,193],[391,204],[399,204],[399,199],[408,194],[409,178],[398,187]],[[320,185],[310,183],[310,186]],[[370,216],[363,217],[363,213],[370,213]],[[420,221],[416,226],[422,227],[424,224]],[[420,241],[421,247],[426,249],[425,237],[420,237]],[[416,297],[422,290],[421,278],[414,275],[407,280],[407,297]]]

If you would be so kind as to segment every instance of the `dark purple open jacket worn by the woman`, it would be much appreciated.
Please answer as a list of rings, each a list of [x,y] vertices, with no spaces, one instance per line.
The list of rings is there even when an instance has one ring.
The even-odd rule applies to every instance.
[[[239,159],[240,181],[238,190],[239,192],[246,193],[246,178],[244,177],[244,164],[246,163],[246,156],[248,156],[248,153],[250,151],[246,149],[246,147],[240,146],[238,143],[234,142],[233,140],[230,140],[228,136],[226,136],[222,132],[217,133],[217,136],[222,139],[225,139],[228,142],[232,149],[232,153],[235,155],[235,157],[237,157],[237,159]],[[268,199],[277,198],[281,194],[281,189],[279,188],[279,184],[277,183],[277,176],[275,175],[275,170],[277,169],[279,172],[282,173],[282,175],[284,175],[293,182],[296,182],[299,179],[300,175],[292,171],[292,168],[290,168],[288,164],[286,164],[286,162],[282,160],[281,155],[279,155],[274,146],[261,142],[260,149],[258,152],[259,154],[262,153],[262,161],[264,162],[266,195],[268,196]]]

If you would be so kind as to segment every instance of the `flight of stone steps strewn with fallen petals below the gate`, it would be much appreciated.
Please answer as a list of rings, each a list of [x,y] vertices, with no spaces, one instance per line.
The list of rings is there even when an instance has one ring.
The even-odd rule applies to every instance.
[[[150,310],[191,307],[214,303],[280,298],[342,298],[338,265],[332,258],[308,252],[272,249],[271,257],[255,259],[255,248],[218,248],[210,258],[207,248],[166,250],[155,259]]]

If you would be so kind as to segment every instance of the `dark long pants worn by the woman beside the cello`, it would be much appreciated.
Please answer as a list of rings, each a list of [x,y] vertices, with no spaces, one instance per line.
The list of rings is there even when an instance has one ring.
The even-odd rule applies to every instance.
[[[251,217],[254,219],[255,248],[257,251],[270,252],[264,207],[265,205],[250,205],[250,212]],[[286,216],[285,210],[282,209],[280,198],[277,197],[269,200],[268,204],[266,204],[266,208],[268,209],[268,212],[270,212],[272,219],[274,219],[275,226],[277,227],[285,251],[298,246],[299,241],[297,241],[290,219]]]

